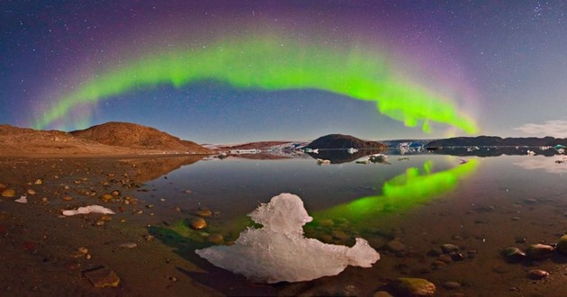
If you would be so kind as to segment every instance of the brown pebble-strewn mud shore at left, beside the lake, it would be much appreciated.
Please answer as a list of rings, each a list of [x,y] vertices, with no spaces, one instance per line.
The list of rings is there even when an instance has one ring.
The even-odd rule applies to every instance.
[[[156,219],[137,198],[159,168],[194,161],[2,158],[0,192],[15,196],[0,198],[0,295],[219,295],[191,281],[185,273],[202,270],[148,233]],[[27,203],[14,202],[21,195]],[[93,204],[116,214],[61,216]]]

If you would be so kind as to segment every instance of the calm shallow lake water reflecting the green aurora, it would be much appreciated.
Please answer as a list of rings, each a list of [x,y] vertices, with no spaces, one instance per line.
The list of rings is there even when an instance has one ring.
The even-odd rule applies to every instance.
[[[567,293],[565,257],[518,264],[500,255],[504,247],[555,243],[567,230],[567,164],[555,163],[561,156],[387,154],[385,163],[322,166],[311,157],[209,157],[148,181],[139,196],[161,221],[150,232],[209,272],[191,275],[195,280],[225,294],[372,295],[401,276],[426,278],[441,296]],[[264,285],[194,255],[212,245],[208,234],[225,242],[238,238],[251,223],[247,213],[279,193],[299,195],[315,218],[306,236],[348,246],[362,237],[382,259],[311,282]],[[208,227],[190,229],[202,208],[213,212],[205,218]],[[389,247],[392,240],[402,246]],[[435,251],[446,243],[458,246],[464,259],[439,263]],[[530,280],[527,271],[534,268],[551,276]],[[444,288],[449,281],[461,287]]]

